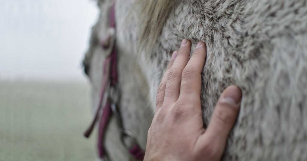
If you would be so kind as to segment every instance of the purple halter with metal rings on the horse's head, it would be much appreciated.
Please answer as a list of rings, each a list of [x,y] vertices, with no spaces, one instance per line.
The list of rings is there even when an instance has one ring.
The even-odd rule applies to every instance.
[[[90,127],[84,132],[85,137],[89,137],[96,122],[98,125],[98,140],[97,148],[99,157],[104,160],[110,160],[107,152],[104,149],[104,135],[110,117],[115,116],[116,122],[120,131],[120,140],[123,146],[129,153],[137,160],[143,160],[145,152],[138,145],[135,136],[132,132],[126,130],[122,124],[121,111],[119,109],[120,88],[118,84],[118,71],[117,71],[117,50],[116,50],[116,25],[115,25],[115,4],[109,9],[109,29],[108,35],[101,42],[101,47],[106,50],[111,49],[111,53],[106,57],[103,64],[103,81],[100,90],[99,104],[93,121]],[[110,45],[112,44],[112,45]],[[106,100],[104,101],[104,98]],[[102,107],[103,106],[103,107]],[[102,110],[102,112],[101,112]],[[128,141],[127,141],[128,140]]]

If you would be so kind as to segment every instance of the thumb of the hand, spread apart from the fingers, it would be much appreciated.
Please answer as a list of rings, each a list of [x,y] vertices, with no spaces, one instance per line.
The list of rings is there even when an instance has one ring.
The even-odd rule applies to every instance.
[[[228,86],[221,94],[212,118],[199,143],[203,149],[220,157],[224,151],[228,134],[239,113],[242,92],[237,86]]]

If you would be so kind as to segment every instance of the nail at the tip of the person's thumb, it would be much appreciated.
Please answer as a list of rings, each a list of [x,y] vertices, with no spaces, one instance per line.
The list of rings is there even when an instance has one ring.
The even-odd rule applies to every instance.
[[[229,105],[233,105],[235,107],[240,106],[242,98],[242,92],[237,86],[229,86],[224,90],[222,98],[220,102],[227,103]]]

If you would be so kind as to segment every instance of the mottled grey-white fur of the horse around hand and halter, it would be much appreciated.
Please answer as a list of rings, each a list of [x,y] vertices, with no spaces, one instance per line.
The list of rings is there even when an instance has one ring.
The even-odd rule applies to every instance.
[[[101,12],[84,59],[94,108],[108,54],[99,41],[107,31],[111,3],[98,1]],[[178,0],[162,12],[168,15],[157,39],[147,38],[154,42],[151,50],[138,50],[144,38],[142,17],[149,15],[141,14],[142,5],[134,0],[117,1],[120,107],[126,129],[145,149],[158,84],[170,54],[187,38],[192,49],[198,41],[207,44],[201,94],[205,126],[225,87],[235,84],[243,92],[223,160],[307,160],[306,5],[306,0]],[[119,141],[114,118],[105,145],[111,159],[133,160]]]

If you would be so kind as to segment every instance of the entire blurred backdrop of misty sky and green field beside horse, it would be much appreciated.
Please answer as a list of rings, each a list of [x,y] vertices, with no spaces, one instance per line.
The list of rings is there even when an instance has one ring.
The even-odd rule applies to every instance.
[[[82,135],[92,115],[81,61],[96,2],[0,2],[0,160],[93,160],[95,135]]]

